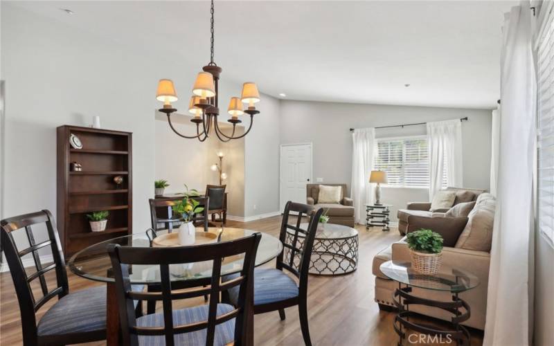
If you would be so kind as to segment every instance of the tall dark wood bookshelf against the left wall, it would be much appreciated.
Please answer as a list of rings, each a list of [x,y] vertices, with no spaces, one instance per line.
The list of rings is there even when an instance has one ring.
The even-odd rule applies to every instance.
[[[78,136],[82,149],[69,145]],[[72,172],[71,163],[82,165]],[[123,176],[116,185],[115,176]],[[108,210],[106,230],[92,232],[90,212]],[[64,125],[57,127],[57,228],[66,260],[78,251],[132,234],[132,134]]]

